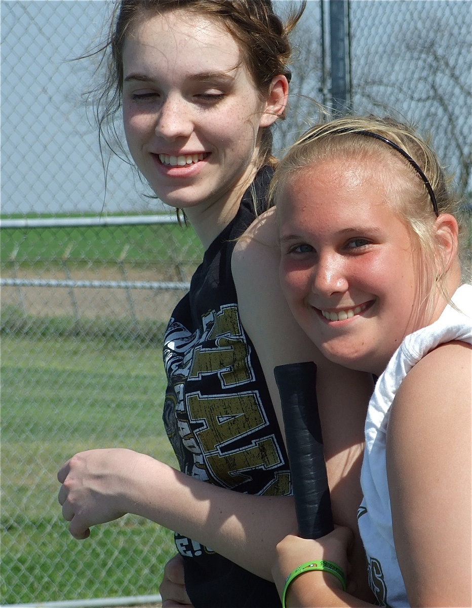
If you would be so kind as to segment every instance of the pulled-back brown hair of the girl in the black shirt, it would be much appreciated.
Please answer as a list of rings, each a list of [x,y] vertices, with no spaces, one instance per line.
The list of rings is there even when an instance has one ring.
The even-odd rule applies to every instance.
[[[274,12],[271,0],[122,0],[114,9],[108,39],[95,52],[102,54],[100,64],[106,66],[103,81],[92,92],[101,147],[105,143],[112,151],[118,149],[128,157],[114,119],[122,101],[123,45],[129,30],[143,15],[185,10],[218,19],[238,42],[242,61],[259,95],[264,98],[273,77],[284,74],[290,80],[292,49],[289,33],[301,17],[305,5],[306,0],[303,0],[297,10],[290,12],[284,23]],[[261,135],[259,167],[264,164],[275,164],[270,126],[265,127]]]

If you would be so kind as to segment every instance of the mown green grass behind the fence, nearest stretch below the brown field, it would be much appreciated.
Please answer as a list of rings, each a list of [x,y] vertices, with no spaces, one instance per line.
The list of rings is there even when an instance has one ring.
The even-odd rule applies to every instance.
[[[76,541],[56,472],[76,451],[131,447],[175,465],[160,348],[2,337],[1,603],[159,593],[172,534],[135,516]]]

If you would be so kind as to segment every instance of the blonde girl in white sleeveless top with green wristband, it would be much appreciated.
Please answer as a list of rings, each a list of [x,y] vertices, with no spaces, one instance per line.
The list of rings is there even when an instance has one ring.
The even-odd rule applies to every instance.
[[[293,316],[331,361],[378,376],[358,510],[374,605],[471,606],[472,286],[460,201],[426,142],[375,117],[308,131],[277,168],[273,196]],[[343,586],[350,536],[278,545],[286,606],[373,605]]]

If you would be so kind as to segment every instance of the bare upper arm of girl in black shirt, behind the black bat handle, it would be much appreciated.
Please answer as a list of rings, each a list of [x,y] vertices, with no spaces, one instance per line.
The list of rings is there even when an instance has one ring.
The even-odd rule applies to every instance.
[[[316,393],[333,519],[355,531],[352,576],[357,581],[358,593],[371,598],[364,550],[357,532],[357,508],[362,498],[359,476],[372,377],[327,361],[293,319],[279,288],[274,209],[256,219],[236,244],[233,277],[241,321],[255,345],[282,430],[282,410],[273,368],[303,361],[315,361],[318,367]]]

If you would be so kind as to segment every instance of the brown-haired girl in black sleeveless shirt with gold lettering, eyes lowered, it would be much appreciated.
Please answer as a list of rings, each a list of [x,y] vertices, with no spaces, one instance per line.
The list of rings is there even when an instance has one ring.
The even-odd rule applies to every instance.
[[[125,449],[82,452],[58,474],[59,500],[80,539],[124,513],[176,530],[186,592],[166,587],[165,599],[195,606],[276,606],[272,554],[296,531],[272,369],[321,357],[290,316],[278,280],[265,290],[270,273],[244,260],[238,271],[250,277],[251,294],[241,292],[240,314],[231,264],[236,241],[267,207],[270,128],[286,112],[287,36],[300,13],[284,25],[267,0],[123,0],[108,44],[102,134],[105,118],[122,109],[137,168],[185,213],[205,255],[163,350],[163,418],[181,471]],[[267,297],[270,314],[261,318]],[[334,368],[320,364],[327,416],[346,396],[358,406],[346,432],[327,439],[330,476],[333,488],[341,480],[354,488],[370,387],[347,370],[333,376]],[[336,378],[330,390],[328,376]],[[355,518],[352,496],[337,500],[333,492],[338,523]]]

